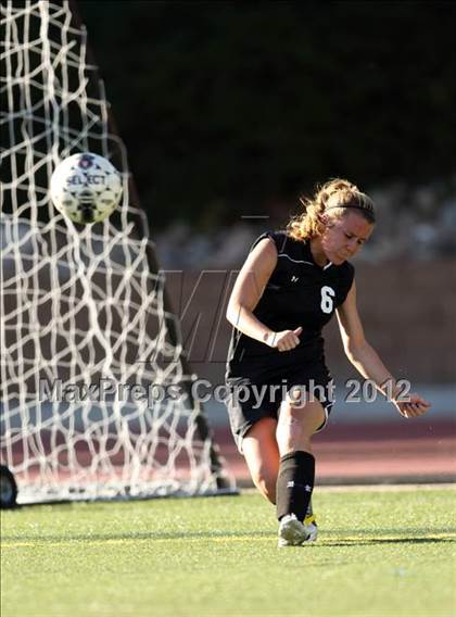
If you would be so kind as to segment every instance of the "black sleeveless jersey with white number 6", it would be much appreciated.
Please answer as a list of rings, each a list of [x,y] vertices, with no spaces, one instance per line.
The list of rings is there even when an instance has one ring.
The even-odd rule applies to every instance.
[[[278,259],[253,313],[275,332],[301,326],[301,342],[291,351],[279,352],[233,328],[227,378],[268,380],[303,364],[325,363],[321,329],[344,302],[353,284],[352,264],[317,265],[308,241],[294,240],[286,231],[266,232],[252,249],[264,238],[275,242]]]

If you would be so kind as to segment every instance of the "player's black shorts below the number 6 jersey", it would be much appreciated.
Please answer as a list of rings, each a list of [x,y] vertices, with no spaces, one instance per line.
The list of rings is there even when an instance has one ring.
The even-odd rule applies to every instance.
[[[281,375],[262,381],[246,377],[230,377],[226,380],[228,410],[231,432],[239,451],[242,440],[255,423],[262,418],[278,419],[281,402],[290,390],[300,388],[302,401],[319,401],[325,410],[325,421],[317,431],[325,428],[333,404],[333,381],[326,367],[312,374],[299,372]]]

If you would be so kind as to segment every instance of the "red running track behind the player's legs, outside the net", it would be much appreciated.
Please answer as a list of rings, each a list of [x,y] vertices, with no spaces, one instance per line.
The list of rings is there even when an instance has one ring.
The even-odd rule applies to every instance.
[[[249,470],[228,429],[215,431],[239,486],[251,486]],[[456,423],[422,419],[390,424],[330,425],[314,438],[317,482],[392,483],[456,480]]]

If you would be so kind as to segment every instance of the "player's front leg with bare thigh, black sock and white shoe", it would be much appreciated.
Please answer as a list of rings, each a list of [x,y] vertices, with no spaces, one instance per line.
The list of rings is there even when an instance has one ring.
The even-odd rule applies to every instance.
[[[286,400],[281,405],[276,433],[280,453],[277,479],[279,546],[316,538],[316,527],[305,527],[303,521],[315,479],[312,436],[325,421],[325,408],[318,401],[297,406]],[[313,532],[314,538],[309,538]]]

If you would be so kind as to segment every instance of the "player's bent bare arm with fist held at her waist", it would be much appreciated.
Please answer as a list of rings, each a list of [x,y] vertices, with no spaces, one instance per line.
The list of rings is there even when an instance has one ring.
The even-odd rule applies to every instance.
[[[299,343],[302,328],[275,332],[253,314],[277,265],[277,249],[273,240],[261,240],[249,254],[232,289],[227,319],[243,335],[278,351],[289,351]]]

